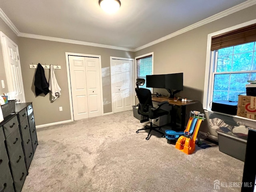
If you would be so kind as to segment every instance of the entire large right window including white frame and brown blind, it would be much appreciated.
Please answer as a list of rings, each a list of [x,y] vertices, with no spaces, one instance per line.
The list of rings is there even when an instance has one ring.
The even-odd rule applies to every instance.
[[[234,28],[208,35],[204,108],[212,101],[237,102],[248,80],[256,80],[256,24]]]

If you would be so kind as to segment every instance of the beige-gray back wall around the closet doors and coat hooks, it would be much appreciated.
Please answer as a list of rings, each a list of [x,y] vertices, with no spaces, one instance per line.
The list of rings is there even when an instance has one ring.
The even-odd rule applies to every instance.
[[[110,56],[134,58],[134,52],[68,44],[32,38],[19,38],[20,64],[23,75],[24,91],[26,101],[33,102],[36,125],[48,124],[70,120],[70,103],[68,95],[68,77],[66,70],[65,52],[93,54],[101,56],[102,66],[102,85],[104,113],[112,112],[111,87],[110,87]],[[50,102],[51,96],[47,94],[35,95],[34,74],[35,69],[30,69],[29,64],[58,64],[60,70],[55,70],[56,79],[60,85],[61,95],[53,103]],[[46,79],[49,78],[49,70],[44,70]],[[59,111],[62,106],[63,111]]]

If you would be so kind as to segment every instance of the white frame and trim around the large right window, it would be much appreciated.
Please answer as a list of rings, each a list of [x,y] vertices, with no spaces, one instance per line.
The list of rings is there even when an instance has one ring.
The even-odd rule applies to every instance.
[[[213,96],[213,88],[214,88],[214,67],[216,67],[217,60],[215,59],[218,55],[218,52],[216,50],[211,50],[211,44],[212,44],[212,37],[217,36],[220,34],[224,34],[226,32],[230,32],[232,30],[236,30],[245,26],[249,26],[251,24],[256,24],[256,19],[244,22],[242,24],[238,24],[236,26],[232,26],[230,28],[226,28],[224,30],[220,30],[211,34],[208,34],[207,39],[207,51],[206,51],[206,68],[205,68],[205,78],[204,78],[204,97],[203,97],[203,109],[206,111],[211,111],[210,103],[212,102],[212,96]],[[214,63],[215,61],[215,63]],[[227,116],[232,116],[229,114],[225,114]],[[238,118],[243,118],[240,116],[236,116]],[[248,119],[248,118],[245,118]],[[253,120],[255,121],[255,120]]]

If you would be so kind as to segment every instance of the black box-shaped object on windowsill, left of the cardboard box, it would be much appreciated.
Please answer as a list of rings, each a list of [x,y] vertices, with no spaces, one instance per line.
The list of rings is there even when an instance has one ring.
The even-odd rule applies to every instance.
[[[236,115],[237,103],[233,101],[213,101],[212,111],[221,112],[230,115]]]

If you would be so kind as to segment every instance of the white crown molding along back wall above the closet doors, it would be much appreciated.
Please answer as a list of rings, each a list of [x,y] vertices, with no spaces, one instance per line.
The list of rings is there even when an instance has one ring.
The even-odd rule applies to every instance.
[[[130,49],[130,48],[117,47],[117,46],[111,46],[111,45],[104,45],[104,44],[98,44],[98,43],[90,43],[90,42],[70,40],[70,39],[62,39],[62,38],[42,36],[42,35],[34,35],[34,34],[28,34],[28,33],[20,33],[18,36],[26,37],[26,38],[33,38],[33,39],[57,41],[57,42],[62,42],[62,43],[71,43],[71,44],[87,45],[87,46],[102,47],[102,48],[108,48],[108,49],[117,49],[117,50],[132,51],[132,52],[134,52],[134,49]]]

